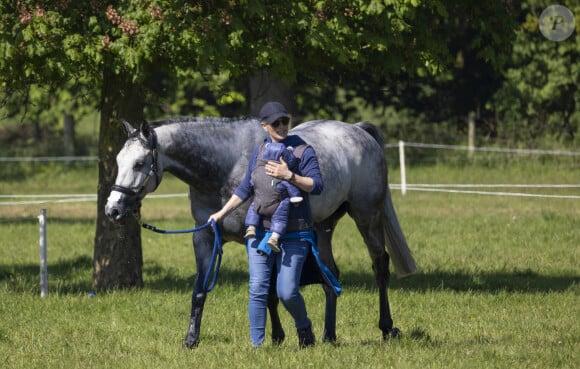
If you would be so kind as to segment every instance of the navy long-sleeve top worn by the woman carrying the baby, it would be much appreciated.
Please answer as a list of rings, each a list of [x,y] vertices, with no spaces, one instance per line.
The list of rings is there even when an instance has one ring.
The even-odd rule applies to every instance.
[[[264,140],[264,142],[271,142],[270,138]],[[302,138],[296,135],[287,136],[283,141],[281,141],[285,146],[297,147],[306,144]],[[254,194],[254,188],[250,182],[252,171],[256,167],[256,161],[258,158],[259,146],[254,149],[252,156],[250,158],[250,163],[248,169],[246,170],[246,175],[240,183],[240,185],[234,191],[234,194],[241,198],[243,201],[248,200]],[[313,195],[318,195],[322,192],[324,184],[322,182],[322,174],[320,173],[320,167],[318,166],[318,158],[316,157],[316,152],[311,146],[308,146],[302,157],[300,158],[300,163],[298,165],[298,170],[296,174],[302,177],[310,177],[314,181],[312,190],[310,191]],[[304,192],[304,191],[302,191]],[[304,193],[305,201],[299,203],[298,206],[292,206],[290,209],[290,214],[288,219],[305,219],[307,221],[312,221],[312,213],[310,211],[310,201],[308,201],[308,196]]]

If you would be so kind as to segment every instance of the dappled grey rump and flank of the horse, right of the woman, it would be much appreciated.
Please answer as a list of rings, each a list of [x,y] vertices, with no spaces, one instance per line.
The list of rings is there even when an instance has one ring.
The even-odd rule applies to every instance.
[[[382,204],[386,189],[382,139],[358,125],[332,120],[303,123],[291,133],[314,148],[322,171],[324,190],[311,197],[316,221],[328,218],[345,202],[366,208]]]

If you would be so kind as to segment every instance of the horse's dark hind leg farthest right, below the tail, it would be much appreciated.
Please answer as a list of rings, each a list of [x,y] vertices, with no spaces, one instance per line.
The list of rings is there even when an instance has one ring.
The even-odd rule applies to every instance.
[[[368,209],[367,209],[368,211]],[[379,289],[379,328],[383,338],[396,336],[398,329],[393,328],[393,319],[389,306],[387,288],[389,286],[389,254],[385,249],[385,233],[383,229],[384,213],[377,210],[374,215],[352,214],[357,227],[369,250],[373,264],[375,281]]]

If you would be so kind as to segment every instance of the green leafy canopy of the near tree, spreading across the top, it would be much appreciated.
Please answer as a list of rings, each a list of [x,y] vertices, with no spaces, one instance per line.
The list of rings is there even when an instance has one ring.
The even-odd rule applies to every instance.
[[[187,97],[182,105],[207,106],[187,91],[163,90],[159,81],[215,89],[268,70],[299,87],[345,85],[384,104],[397,99],[401,76],[457,78],[450,70],[458,54],[474,61],[471,72],[498,70],[509,57],[514,14],[511,1],[0,0],[0,83],[16,97],[30,85],[50,86],[53,96],[92,91],[98,106],[94,92],[106,68],[143,84],[152,103],[171,98],[175,107]],[[388,84],[393,94],[377,93],[373,84]]]

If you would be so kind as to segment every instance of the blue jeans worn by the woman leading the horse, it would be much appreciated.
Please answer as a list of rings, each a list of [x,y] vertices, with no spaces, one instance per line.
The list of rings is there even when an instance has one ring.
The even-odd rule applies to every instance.
[[[268,290],[272,273],[277,273],[276,293],[294,318],[296,329],[305,329],[311,324],[304,298],[299,291],[300,275],[310,244],[300,239],[283,239],[280,244],[281,252],[260,255],[256,251],[260,241],[259,238],[247,241],[250,272],[248,313],[250,338],[254,346],[262,345],[266,336]]]

